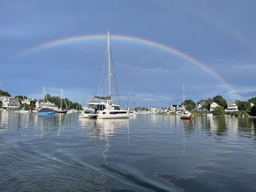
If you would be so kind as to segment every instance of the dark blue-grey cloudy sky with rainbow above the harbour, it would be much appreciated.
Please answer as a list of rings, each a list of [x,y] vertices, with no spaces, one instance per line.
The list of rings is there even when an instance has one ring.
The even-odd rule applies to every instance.
[[[96,94],[107,31],[120,103],[256,96],[255,0],[0,0],[0,84],[12,96]]]

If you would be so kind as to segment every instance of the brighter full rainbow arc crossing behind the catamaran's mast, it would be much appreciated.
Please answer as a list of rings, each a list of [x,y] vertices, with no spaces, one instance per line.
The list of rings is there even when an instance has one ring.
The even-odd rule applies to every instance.
[[[223,77],[221,77],[218,73],[216,73],[215,71],[213,71],[212,69],[210,69],[206,64],[200,62],[199,60],[196,60],[195,58],[175,49],[175,48],[171,48],[167,45],[155,42],[155,41],[151,41],[148,39],[143,39],[143,38],[139,38],[139,37],[135,37],[135,36],[123,36],[123,35],[111,35],[110,36],[111,40],[115,39],[115,40],[122,40],[122,41],[129,41],[129,42],[134,42],[134,43],[140,43],[140,44],[144,44],[147,46],[152,46],[155,48],[160,48],[162,50],[171,52],[172,54],[175,54],[185,60],[188,60],[192,63],[194,63],[196,66],[198,66],[199,68],[203,69],[204,71],[208,72],[209,74],[211,74],[214,78],[216,78],[217,80],[219,80],[219,82],[221,84],[224,84],[228,89],[230,89],[232,92],[233,88],[232,85],[229,84]],[[84,35],[84,36],[72,36],[72,37],[68,37],[68,38],[62,38],[62,39],[58,39],[55,41],[51,41],[51,42],[47,42],[41,45],[38,45],[36,47],[33,48],[29,48],[25,51],[22,52],[22,55],[24,54],[28,54],[28,53],[32,53],[41,49],[46,49],[46,48],[50,48],[50,47],[56,47],[56,46],[60,46],[60,45],[65,45],[65,44],[70,44],[70,43],[75,43],[75,42],[81,42],[81,41],[86,41],[86,40],[101,40],[101,39],[105,39],[106,40],[106,35],[101,35],[101,34],[93,34],[93,35]]]

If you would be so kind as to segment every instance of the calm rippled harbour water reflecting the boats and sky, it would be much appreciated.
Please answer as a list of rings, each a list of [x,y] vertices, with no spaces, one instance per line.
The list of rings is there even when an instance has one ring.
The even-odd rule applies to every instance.
[[[0,112],[0,191],[256,191],[256,120]]]

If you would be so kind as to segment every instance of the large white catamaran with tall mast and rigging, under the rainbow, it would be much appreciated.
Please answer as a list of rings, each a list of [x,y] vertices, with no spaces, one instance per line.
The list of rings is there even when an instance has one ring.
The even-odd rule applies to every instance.
[[[117,91],[117,84],[116,84],[116,79],[115,79],[115,72],[114,72],[114,66],[113,66],[113,61],[112,61],[112,54],[110,50],[110,32],[108,31],[108,42],[107,42],[107,50],[105,53],[105,56],[108,58],[108,73],[107,73],[107,80],[108,80],[108,96],[93,96],[93,98],[96,100],[96,102],[90,102],[88,105],[94,105],[95,112],[94,114],[88,114],[89,117],[91,118],[98,118],[98,119],[112,119],[112,118],[129,118],[129,110],[122,110],[120,108],[120,105],[114,104],[111,99],[111,83],[115,84],[116,89],[116,94],[117,94],[117,100],[119,103],[119,96],[118,96],[118,91]],[[104,57],[105,58],[105,57]],[[103,73],[104,65],[102,65],[102,70],[100,77]],[[115,81],[111,82],[111,76],[113,75]],[[102,86],[101,88],[103,89]],[[99,91],[100,88],[100,79],[98,83],[98,88],[97,92]],[[98,100],[100,99],[100,100]]]

